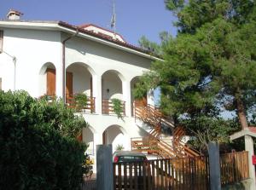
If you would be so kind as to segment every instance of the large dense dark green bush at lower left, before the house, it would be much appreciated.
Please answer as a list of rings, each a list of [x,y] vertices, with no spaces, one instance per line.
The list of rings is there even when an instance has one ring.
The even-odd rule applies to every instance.
[[[61,101],[0,91],[0,189],[79,189],[86,123]]]

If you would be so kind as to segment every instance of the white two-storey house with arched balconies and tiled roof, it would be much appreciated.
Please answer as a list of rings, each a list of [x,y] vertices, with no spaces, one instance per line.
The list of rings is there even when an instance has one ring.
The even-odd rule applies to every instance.
[[[79,113],[90,124],[82,134],[90,145],[88,153],[95,155],[96,145],[102,143],[131,150],[131,138],[149,135],[148,124],[154,126],[150,132],[154,138],[159,137],[161,122],[172,126],[154,108],[152,91],[143,102],[147,109],[137,110],[137,114],[145,117],[142,112],[153,112],[156,122],[153,116],[147,120],[147,114],[141,120],[134,117],[131,91],[138,77],[159,58],[99,26],[27,21],[20,16],[10,10],[7,20],[0,20],[0,89],[25,89],[33,97],[56,95],[67,105],[74,94],[88,95],[88,105]],[[113,98],[123,102],[123,118],[113,113]],[[158,144],[158,148],[165,149],[164,156],[173,155],[173,148],[166,149],[166,144]]]

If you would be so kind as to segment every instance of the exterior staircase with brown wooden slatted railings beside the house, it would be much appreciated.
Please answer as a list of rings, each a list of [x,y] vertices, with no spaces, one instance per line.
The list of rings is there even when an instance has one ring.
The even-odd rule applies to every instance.
[[[152,130],[148,136],[131,138],[131,150],[156,154],[162,158],[195,158],[201,156],[183,142],[185,130],[174,127],[172,119],[167,118],[160,110],[151,105],[144,106],[135,102],[135,118],[150,125]],[[171,128],[172,143],[160,139],[163,127]]]

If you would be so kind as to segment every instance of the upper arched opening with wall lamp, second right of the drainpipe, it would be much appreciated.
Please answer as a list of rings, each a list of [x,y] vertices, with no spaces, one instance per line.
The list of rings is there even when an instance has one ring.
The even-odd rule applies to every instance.
[[[122,103],[123,114],[125,114],[125,102],[123,101],[122,89],[123,80],[123,76],[113,70],[102,74],[102,113],[114,114],[112,99],[118,99]]]

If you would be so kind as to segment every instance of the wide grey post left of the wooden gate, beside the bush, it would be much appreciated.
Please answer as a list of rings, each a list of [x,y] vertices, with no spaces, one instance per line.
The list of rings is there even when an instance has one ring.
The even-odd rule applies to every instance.
[[[96,190],[112,190],[112,145],[97,145],[96,155]]]

